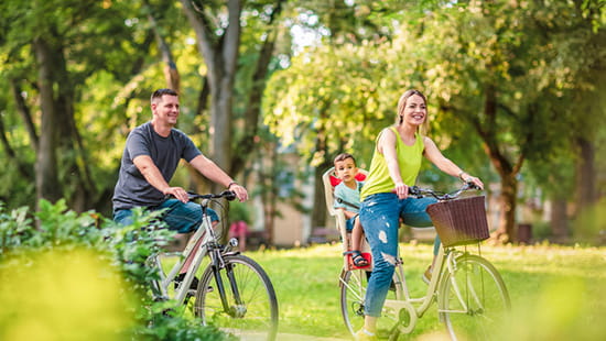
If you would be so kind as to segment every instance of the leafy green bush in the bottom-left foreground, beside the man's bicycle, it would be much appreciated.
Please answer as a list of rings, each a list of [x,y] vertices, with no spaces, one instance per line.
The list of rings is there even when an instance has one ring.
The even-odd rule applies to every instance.
[[[130,336],[138,340],[231,340],[231,337],[216,328],[204,327],[195,320],[185,318],[182,314],[183,307],[176,306],[174,301],[153,300],[149,283],[159,275],[156,270],[145,264],[145,261],[150,255],[160,252],[162,245],[172,239],[173,233],[155,222],[156,216],[161,212],[147,215],[142,210],[134,210],[133,213],[131,226],[123,227],[110,220],[104,220],[102,226],[98,227],[101,218],[97,213],[76,213],[67,210],[65,200],[59,200],[55,205],[41,201],[40,211],[33,215],[25,207],[8,210],[1,205],[0,275],[2,283],[7,276],[3,270],[10,270],[12,277],[24,278],[23,280],[35,285],[48,276],[56,277],[67,268],[68,276],[74,276],[69,280],[78,287],[78,290],[96,290],[94,283],[89,283],[89,279],[78,280],[80,278],[77,277],[82,272],[71,272],[71,265],[68,265],[71,263],[66,263],[67,261],[53,263],[53,267],[50,267],[51,272],[44,276],[30,273],[28,266],[11,266],[11,264],[36,263],[37,261],[34,261],[45,253],[48,254],[50,260],[53,260],[55,253],[64,254],[65,260],[79,258],[78,254],[82,252],[79,250],[85,250],[88,257],[91,256],[90,262],[100,264],[99,266],[104,268],[109,267],[119,274],[119,280],[125,283],[122,288],[112,294],[111,299],[126,305],[120,308],[119,314],[132,316],[133,322],[128,326],[120,324],[123,330],[111,330],[111,332],[122,333],[127,339]],[[83,268],[89,267],[85,265]],[[44,271],[43,268],[44,266],[41,271]],[[52,292],[53,289],[44,292],[44,296],[61,298],[63,288],[56,289],[58,290],[56,293]],[[19,293],[11,293],[17,295],[14,297],[19,297]],[[29,295],[29,292],[24,292],[24,295]],[[87,297],[87,300],[91,301],[91,307],[95,307],[93,304],[95,297],[95,294]],[[53,302],[55,304],[63,307],[64,301],[58,299]],[[113,311],[116,308],[108,309]],[[61,311],[54,312],[61,315]],[[28,311],[23,312],[23,316],[36,318]],[[88,315],[85,318],[95,320],[98,316]],[[110,318],[113,318],[113,315],[110,315]],[[4,321],[0,315],[0,324]]]

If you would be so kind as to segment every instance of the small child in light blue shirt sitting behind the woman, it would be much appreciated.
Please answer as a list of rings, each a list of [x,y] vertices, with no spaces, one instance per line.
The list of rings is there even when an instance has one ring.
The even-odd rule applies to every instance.
[[[335,175],[342,180],[335,186],[335,205],[345,213],[346,229],[351,232],[351,261],[357,267],[368,266],[368,261],[360,253],[360,243],[362,239],[362,228],[358,221],[358,210],[360,207],[360,189],[364,183],[358,182],[355,176],[358,174],[356,160],[351,154],[343,153],[335,157]]]

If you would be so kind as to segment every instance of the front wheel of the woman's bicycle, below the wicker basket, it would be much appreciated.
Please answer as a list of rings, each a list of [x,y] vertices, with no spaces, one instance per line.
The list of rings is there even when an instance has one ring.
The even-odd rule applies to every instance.
[[[453,340],[490,340],[511,307],[507,287],[495,266],[483,257],[464,254],[455,271],[443,274],[439,312]]]

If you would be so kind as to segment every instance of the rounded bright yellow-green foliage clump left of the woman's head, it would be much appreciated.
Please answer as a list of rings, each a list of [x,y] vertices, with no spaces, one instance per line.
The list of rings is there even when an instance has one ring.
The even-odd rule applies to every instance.
[[[383,68],[374,46],[303,53],[270,80],[264,122],[283,144],[296,141],[299,152],[312,156],[312,165],[345,151],[367,155],[377,127],[394,120],[392,108],[386,108],[380,97]],[[318,139],[325,140],[325,151],[317,150]],[[365,157],[359,160],[364,167]]]

